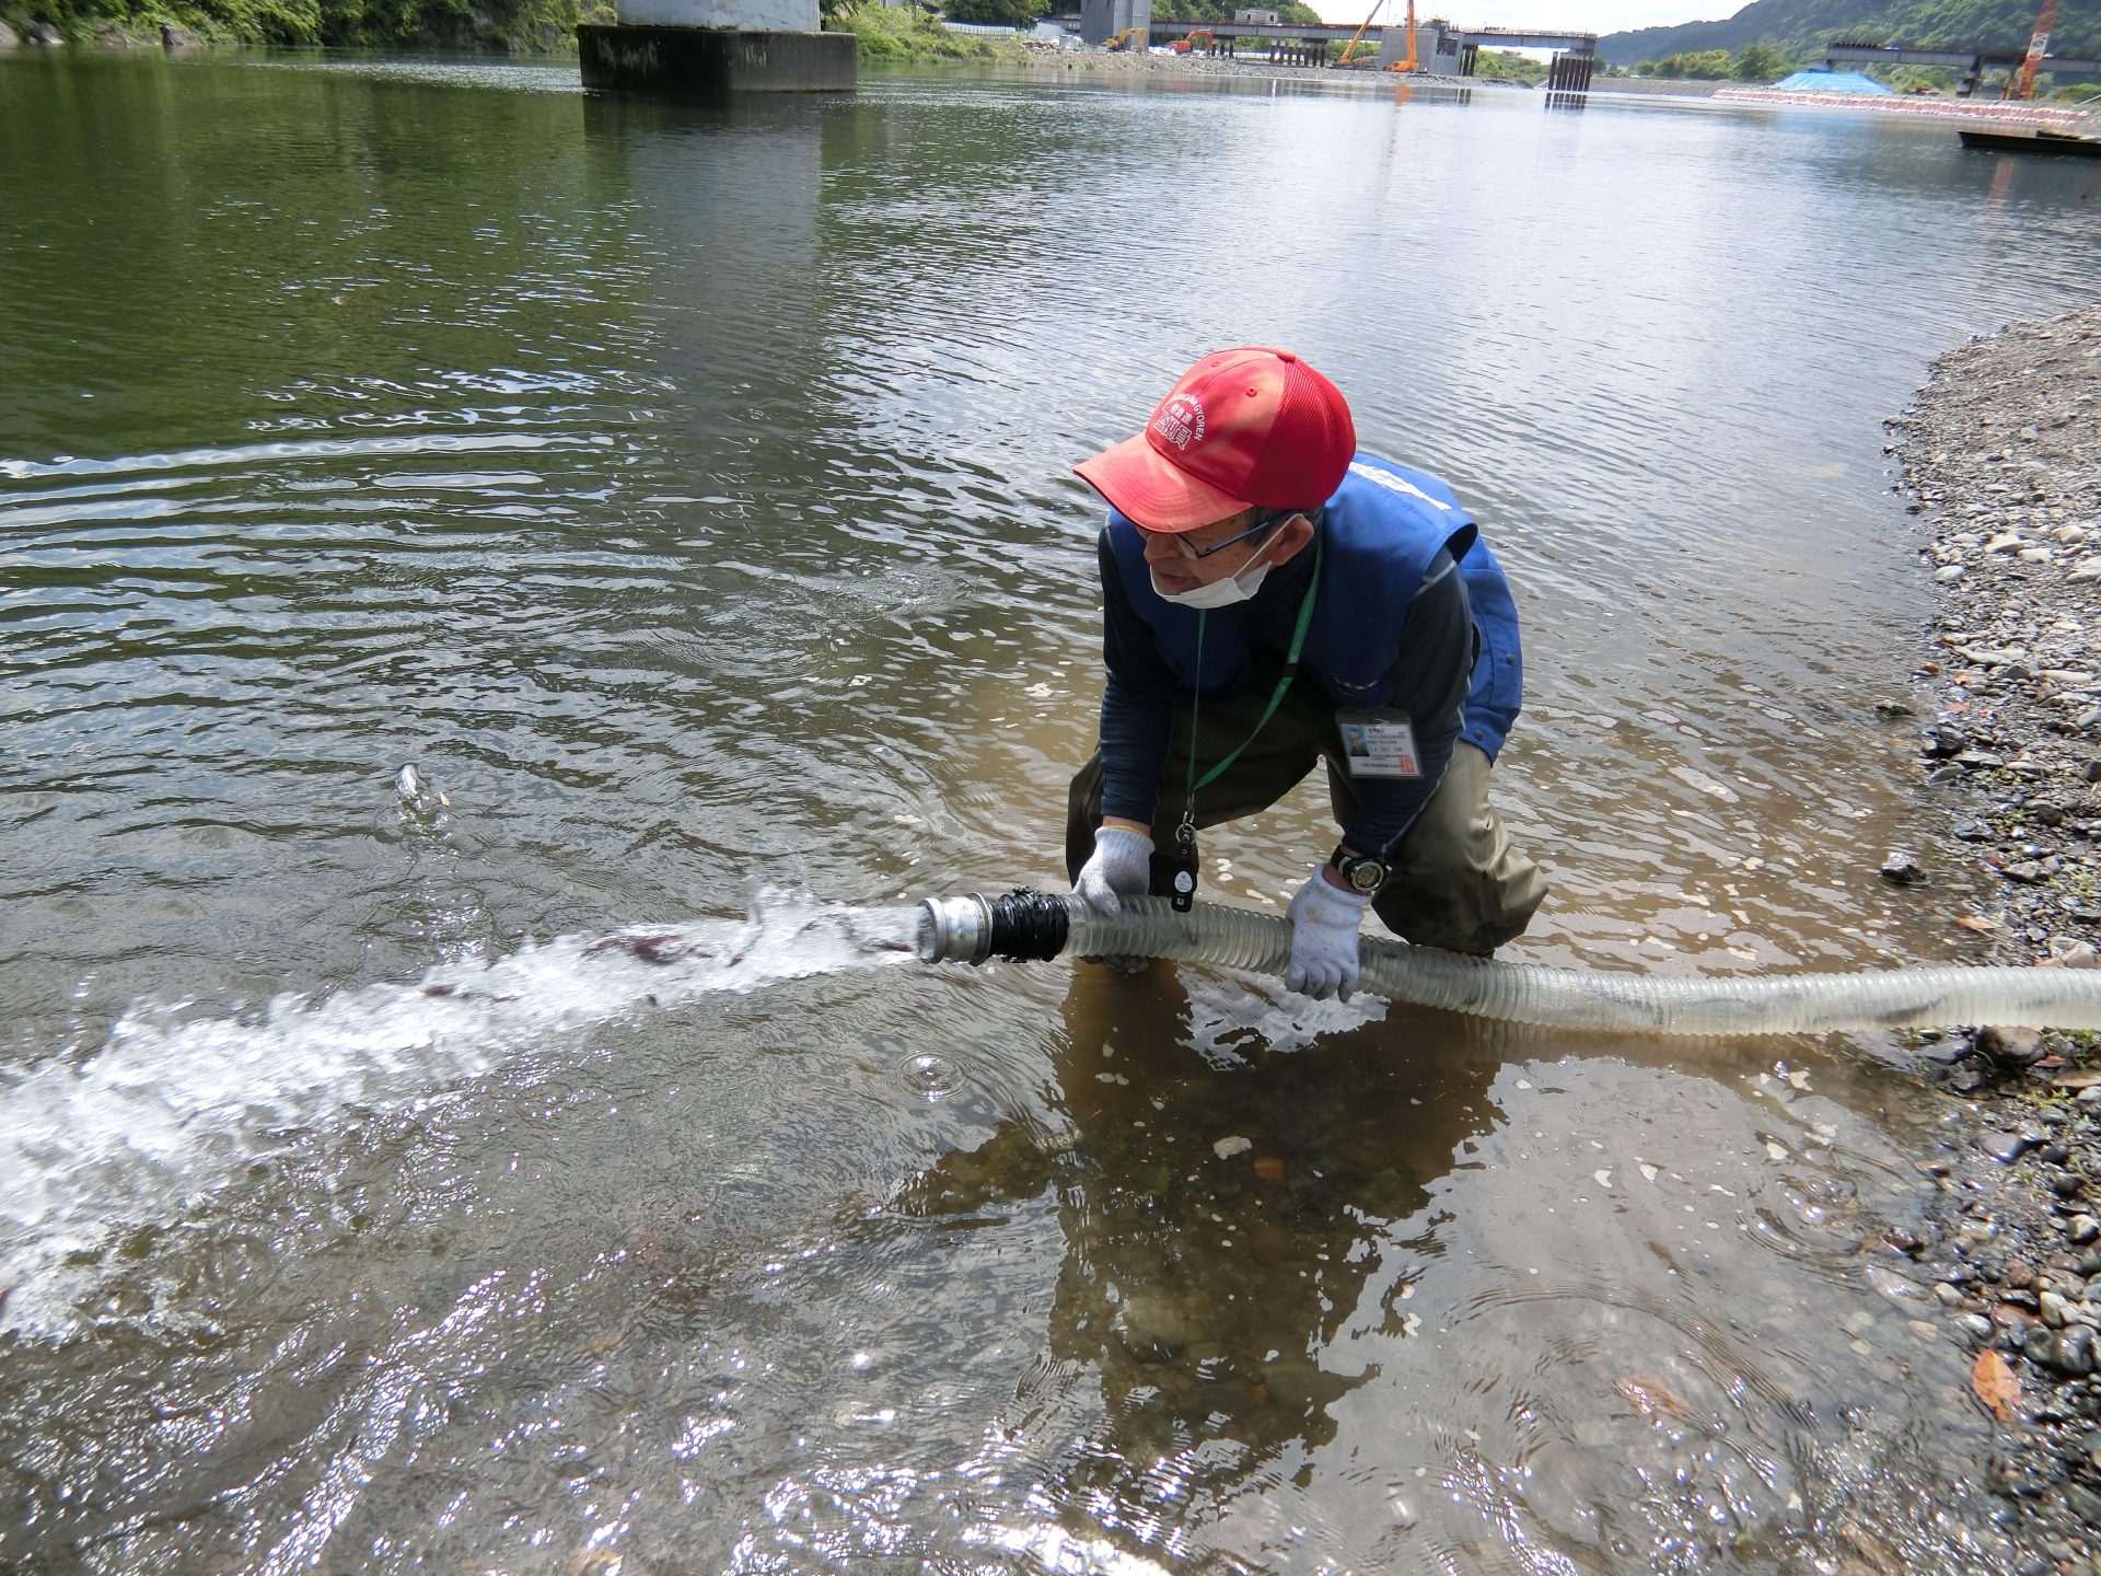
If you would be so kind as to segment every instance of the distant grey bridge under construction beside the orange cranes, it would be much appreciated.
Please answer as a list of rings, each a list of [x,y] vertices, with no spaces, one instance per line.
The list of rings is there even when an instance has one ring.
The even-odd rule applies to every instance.
[[[1139,29],[1137,46],[1170,42],[1191,34],[1208,34],[1210,48],[1235,53],[1242,40],[1269,44],[1271,55],[1298,59],[1305,65],[1326,65],[1330,42],[1349,42],[1361,27],[1349,23],[1269,21],[1261,11],[1235,13],[1244,21],[1204,21],[1189,17],[1153,17],[1151,0],[1082,0],[1080,38],[1103,44],[1118,34]],[[1408,59],[1408,29],[1380,27],[1378,65]],[[1454,27],[1443,17],[1416,25],[1416,69],[1437,76],[1473,76],[1483,48],[1546,48],[1555,50],[1548,88],[1574,90],[1590,86],[1597,67],[1597,34],[1555,34],[1525,27]]]

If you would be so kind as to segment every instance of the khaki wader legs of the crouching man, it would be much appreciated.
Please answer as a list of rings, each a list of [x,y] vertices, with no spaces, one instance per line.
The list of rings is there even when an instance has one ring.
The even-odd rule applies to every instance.
[[[1198,775],[1248,738],[1271,685],[1252,683],[1231,700],[1206,700]],[[1328,801],[1338,826],[1357,813],[1357,792],[1343,765],[1343,733],[1334,706],[1313,685],[1296,683],[1277,714],[1212,784],[1198,790],[1195,824],[1219,826],[1275,805],[1319,763],[1328,763]],[[1393,853],[1393,876],[1372,899],[1378,918],[1414,946],[1450,952],[1490,954],[1523,935],[1534,910],[1546,897],[1546,876],[1513,843],[1509,828],[1488,803],[1490,759],[1473,744],[1452,748],[1452,763],[1429,805],[1408,828]],[[1080,878],[1080,866],[1095,853],[1101,826],[1101,750],[1074,773],[1065,796],[1065,874]],[[1151,893],[1172,893],[1174,826],[1189,792],[1189,706],[1174,708],[1174,733],[1160,775],[1160,799],[1151,815]]]

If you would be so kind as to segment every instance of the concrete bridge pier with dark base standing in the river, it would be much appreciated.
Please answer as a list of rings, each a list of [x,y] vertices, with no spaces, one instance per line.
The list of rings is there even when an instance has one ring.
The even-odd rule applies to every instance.
[[[821,29],[817,0],[620,0],[618,23],[576,29],[586,88],[704,101],[849,92],[857,48]]]

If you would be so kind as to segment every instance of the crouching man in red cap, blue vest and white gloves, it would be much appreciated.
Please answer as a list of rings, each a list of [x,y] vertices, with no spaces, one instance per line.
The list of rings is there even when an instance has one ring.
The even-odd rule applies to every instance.
[[[1488,805],[1517,607],[1452,490],[1359,452],[1340,391],[1271,349],[1206,355],[1074,469],[1109,502],[1101,746],[1065,822],[1082,899],[1187,895],[1198,828],[1326,761],[1343,841],[1292,897],[1290,990],[1349,1000],[1366,908],[1452,952],[1521,935],[1546,880]]]

